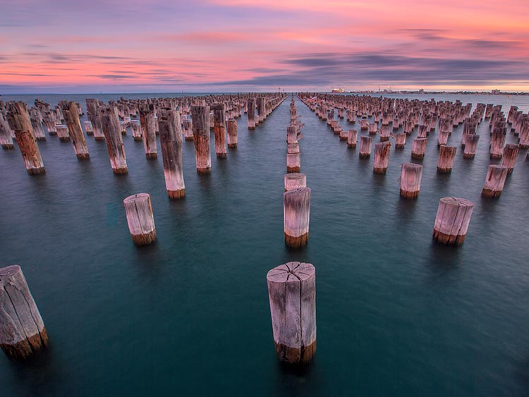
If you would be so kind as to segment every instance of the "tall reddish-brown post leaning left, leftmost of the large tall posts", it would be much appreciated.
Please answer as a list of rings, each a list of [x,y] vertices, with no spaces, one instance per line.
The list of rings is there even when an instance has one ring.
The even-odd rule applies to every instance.
[[[33,135],[28,106],[25,102],[10,104],[7,118],[9,126],[15,131],[16,142],[22,153],[26,171],[30,175],[45,173],[39,146],[35,135]]]

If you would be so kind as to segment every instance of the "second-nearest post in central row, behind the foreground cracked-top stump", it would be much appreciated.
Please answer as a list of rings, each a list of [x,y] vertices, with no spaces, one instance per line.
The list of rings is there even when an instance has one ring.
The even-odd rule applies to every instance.
[[[288,190],[283,194],[285,243],[300,248],[307,244],[310,220],[310,188]]]

